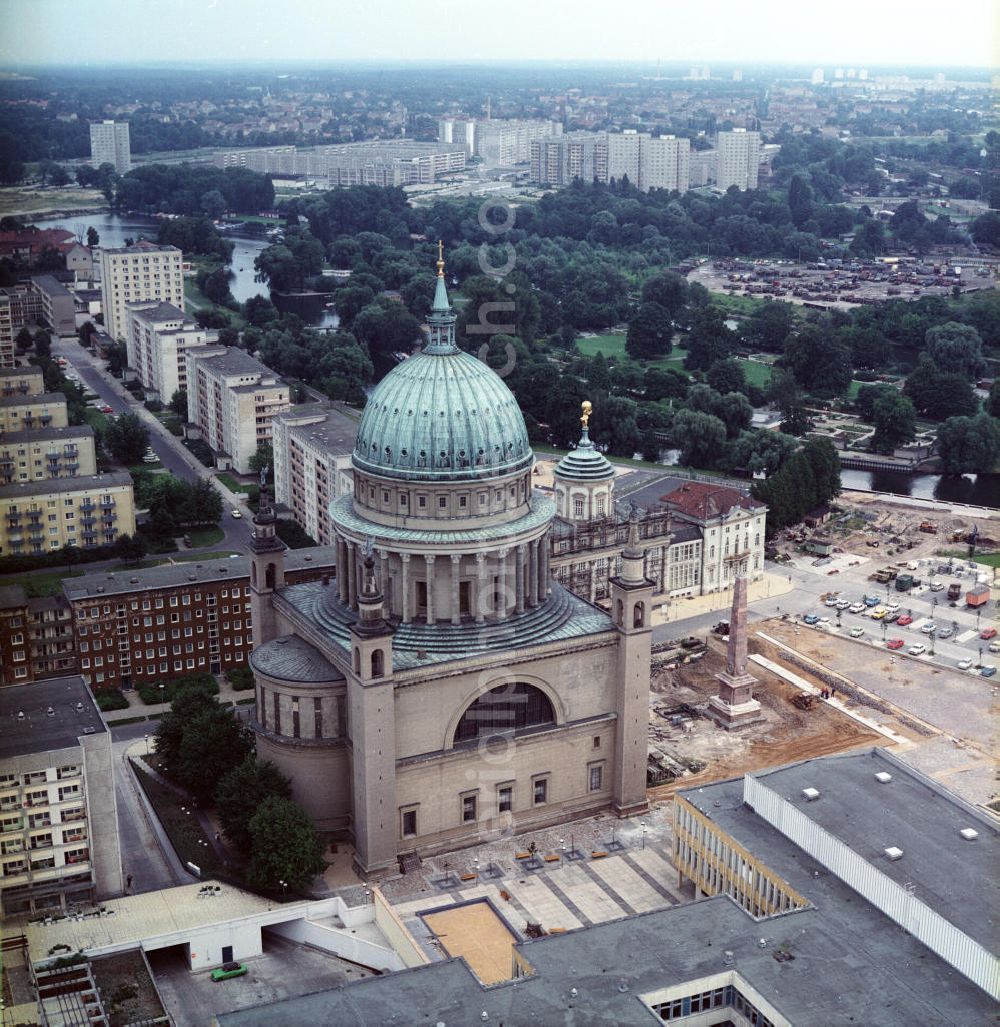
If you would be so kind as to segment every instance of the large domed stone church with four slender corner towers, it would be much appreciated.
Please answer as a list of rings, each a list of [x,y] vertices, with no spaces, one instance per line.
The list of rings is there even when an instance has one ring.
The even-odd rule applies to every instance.
[[[330,507],[336,576],[285,585],[266,497],[254,519],[258,756],[369,874],[646,803],[638,524],[610,615],[552,580],[521,410],[455,320],[438,259],[429,340],[372,393]]]

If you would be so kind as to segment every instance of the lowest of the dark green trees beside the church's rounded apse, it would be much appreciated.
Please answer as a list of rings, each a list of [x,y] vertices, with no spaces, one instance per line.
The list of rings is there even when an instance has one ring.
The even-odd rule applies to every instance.
[[[291,799],[271,796],[249,822],[251,864],[247,878],[259,888],[275,890],[280,882],[296,891],[322,873],[322,847],[305,810]]]

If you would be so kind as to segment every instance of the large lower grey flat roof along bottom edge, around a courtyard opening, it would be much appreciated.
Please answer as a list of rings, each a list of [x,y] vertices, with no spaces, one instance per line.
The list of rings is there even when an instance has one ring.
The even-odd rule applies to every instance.
[[[831,915],[830,905],[850,908],[846,898],[828,891],[823,909],[755,921],[719,896],[521,942],[516,948],[534,976],[489,988],[464,960],[449,959],[216,1019],[221,1027],[470,1024],[486,1012],[484,1022],[511,1027],[650,1025],[660,1019],[642,996],[687,982],[684,993],[696,994],[708,990],[699,982],[729,972],[738,975],[737,988],[744,981],[797,1027],[971,1025],[993,1016],[984,991],[871,908]],[[429,896],[428,909],[435,905]],[[775,959],[779,946],[794,958]],[[711,1022],[728,1019],[725,1009],[716,1014]]]

